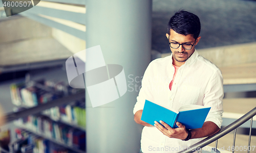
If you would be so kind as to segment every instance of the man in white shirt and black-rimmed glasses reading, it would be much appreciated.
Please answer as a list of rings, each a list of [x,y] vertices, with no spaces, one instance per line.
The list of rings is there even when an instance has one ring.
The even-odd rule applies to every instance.
[[[200,29],[200,20],[193,13],[179,11],[169,20],[166,37],[172,55],[148,65],[134,107],[134,120],[144,125],[141,152],[179,152],[220,130],[223,79],[220,69],[195,49]],[[152,126],[140,119],[145,99],[175,110],[189,104],[211,109],[199,129],[187,130],[179,122],[176,129],[163,121]]]

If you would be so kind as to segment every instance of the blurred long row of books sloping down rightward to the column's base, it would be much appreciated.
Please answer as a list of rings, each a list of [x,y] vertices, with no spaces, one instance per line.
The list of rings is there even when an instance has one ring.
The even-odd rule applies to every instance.
[[[21,128],[60,144],[77,149],[85,148],[86,145],[86,133],[84,131],[67,124],[55,122],[45,116],[29,115],[28,117],[19,118],[14,123]]]

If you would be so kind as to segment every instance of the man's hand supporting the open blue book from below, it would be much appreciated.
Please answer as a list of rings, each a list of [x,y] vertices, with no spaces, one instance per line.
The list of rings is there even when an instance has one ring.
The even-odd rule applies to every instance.
[[[163,125],[161,125],[161,124]],[[187,130],[185,125],[181,124],[180,122],[176,122],[176,124],[179,126],[176,129],[173,129],[168,124],[160,120],[160,123],[155,121],[155,126],[159,131],[161,131],[165,136],[169,138],[176,138],[184,140],[187,138]]]

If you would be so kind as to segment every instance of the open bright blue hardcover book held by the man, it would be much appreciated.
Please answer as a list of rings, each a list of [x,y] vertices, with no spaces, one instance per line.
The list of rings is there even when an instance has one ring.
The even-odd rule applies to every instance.
[[[172,128],[177,128],[176,122],[180,122],[186,126],[186,129],[201,128],[205,118],[210,111],[210,107],[206,108],[200,105],[184,105],[178,111],[166,109],[151,101],[146,100],[141,115],[141,120],[154,126],[154,121],[164,121]]]

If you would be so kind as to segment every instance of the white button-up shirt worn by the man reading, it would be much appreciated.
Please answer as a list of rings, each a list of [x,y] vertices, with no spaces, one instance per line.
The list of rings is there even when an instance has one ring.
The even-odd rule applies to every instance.
[[[178,109],[183,105],[211,107],[205,121],[212,121],[219,127],[222,123],[223,78],[220,69],[198,55],[197,50],[180,66],[174,77],[173,54],[152,61],[143,76],[142,87],[137,97],[133,113],[143,110],[145,99],[165,108]],[[168,138],[155,126],[144,126],[141,135],[141,150],[147,152],[179,152],[202,140]]]

